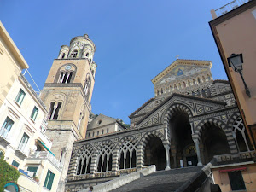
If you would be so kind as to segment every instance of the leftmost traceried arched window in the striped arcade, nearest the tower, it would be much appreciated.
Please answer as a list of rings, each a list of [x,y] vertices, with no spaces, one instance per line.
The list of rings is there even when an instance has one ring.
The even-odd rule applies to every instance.
[[[78,160],[77,175],[90,173],[91,151],[85,149]]]

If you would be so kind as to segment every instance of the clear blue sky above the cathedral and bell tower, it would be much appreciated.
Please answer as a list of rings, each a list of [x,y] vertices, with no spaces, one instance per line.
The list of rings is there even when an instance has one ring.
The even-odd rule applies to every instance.
[[[96,44],[92,112],[120,118],[154,97],[151,79],[176,60],[212,61],[227,79],[208,22],[230,0],[1,0],[0,20],[40,89],[61,45],[89,34]]]

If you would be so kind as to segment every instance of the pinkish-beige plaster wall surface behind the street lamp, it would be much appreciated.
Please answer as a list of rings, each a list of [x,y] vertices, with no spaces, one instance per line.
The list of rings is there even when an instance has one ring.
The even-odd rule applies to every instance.
[[[241,102],[241,108],[244,110],[247,125],[256,123],[256,19],[253,16],[255,10],[256,7],[248,9],[216,26],[226,58],[233,53],[243,55],[243,75],[251,91],[251,98],[245,93],[239,73],[234,72],[231,67],[229,70],[236,85],[236,93]]]

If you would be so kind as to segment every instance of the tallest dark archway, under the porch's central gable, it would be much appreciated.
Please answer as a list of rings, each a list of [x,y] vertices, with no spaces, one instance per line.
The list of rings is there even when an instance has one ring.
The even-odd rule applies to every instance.
[[[175,158],[175,160],[173,160],[175,163],[174,167],[177,168],[181,166],[196,166],[196,154],[191,154],[188,151],[189,146],[195,146],[191,136],[192,131],[189,123],[188,113],[182,111],[173,113],[169,125],[170,133],[173,139],[171,148],[172,156]]]

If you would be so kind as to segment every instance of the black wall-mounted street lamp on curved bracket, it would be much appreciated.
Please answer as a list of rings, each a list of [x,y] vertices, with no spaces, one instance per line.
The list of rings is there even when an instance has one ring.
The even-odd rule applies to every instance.
[[[238,72],[240,74],[242,82],[243,82],[245,90],[246,90],[246,94],[247,94],[247,96],[251,97],[250,90],[247,87],[247,84],[242,76],[242,63],[243,63],[242,54],[230,55],[230,57],[228,58],[228,62],[229,62],[229,67],[232,67],[235,70],[235,72]]]

